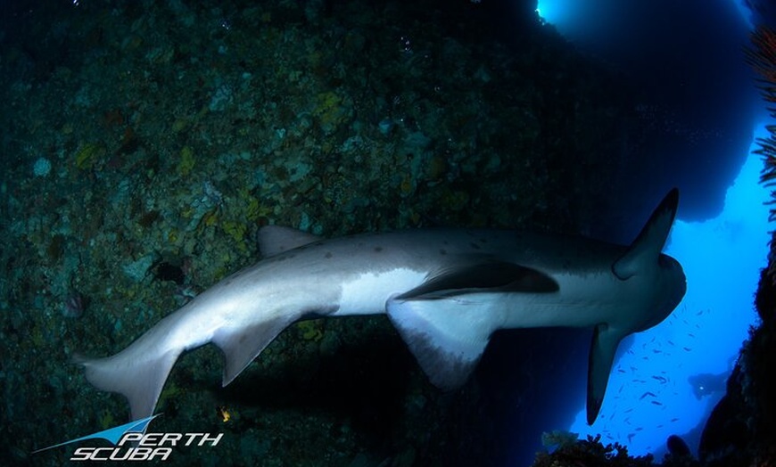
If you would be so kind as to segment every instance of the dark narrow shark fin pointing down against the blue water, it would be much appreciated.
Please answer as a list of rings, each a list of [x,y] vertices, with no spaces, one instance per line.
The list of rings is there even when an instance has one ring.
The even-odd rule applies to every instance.
[[[617,346],[623,337],[621,332],[609,328],[607,324],[599,324],[593,330],[588,364],[587,419],[589,425],[592,425],[599,416]]]

